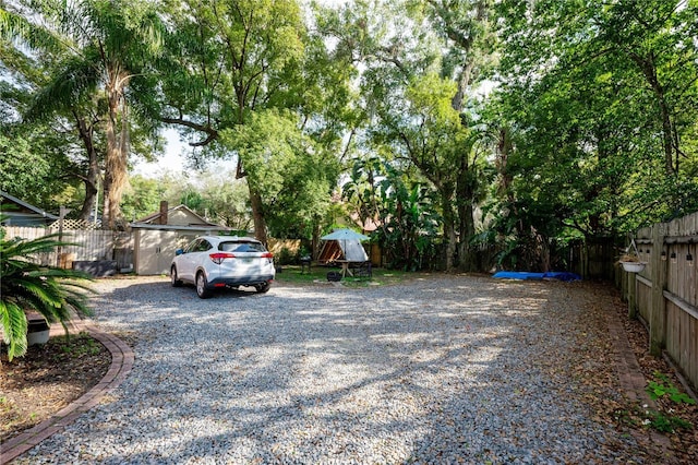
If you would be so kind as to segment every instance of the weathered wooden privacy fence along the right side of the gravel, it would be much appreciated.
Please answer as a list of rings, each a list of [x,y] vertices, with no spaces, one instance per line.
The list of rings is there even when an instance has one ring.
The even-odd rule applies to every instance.
[[[650,350],[664,351],[698,386],[698,213],[640,229],[640,273],[621,274],[630,317],[649,326]]]

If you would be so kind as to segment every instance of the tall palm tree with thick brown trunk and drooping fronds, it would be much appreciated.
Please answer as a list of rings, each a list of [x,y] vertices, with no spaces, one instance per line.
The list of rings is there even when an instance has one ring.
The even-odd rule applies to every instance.
[[[139,111],[131,111],[129,100],[147,99],[148,92],[134,92],[134,84],[141,91],[152,91],[151,83],[145,82],[152,74],[151,62],[163,45],[159,16],[153,3],[145,0],[12,3],[16,11],[9,8],[12,5],[3,8],[0,1],[0,41],[19,43],[14,55],[28,49],[41,56],[41,65],[51,63],[33,83],[36,92],[23,117],[32,120],[58,112],[75,119],[91,156],[93,187],[88,186],[88,191],[95,189],[97,177],[95,154],[89,152],[95,150],[97,139],[104,139],[103,222],[113,228],[122,216],[121,196],[128,186],[132,119],[139,119]],[[15,67],[26,75],[25,68]],[[89,112],[94,114],[92,124],[84,117]],[[146,129],[144,118],[139,122],[141,129]],[[147,128],[151,135],[154,124],[151,121]],[[104,133],[95,138],[93,132],[98,130]]]

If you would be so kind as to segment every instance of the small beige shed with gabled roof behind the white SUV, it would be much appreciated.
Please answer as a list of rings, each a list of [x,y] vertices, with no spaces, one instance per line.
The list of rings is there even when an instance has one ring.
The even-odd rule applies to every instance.
[[[196,236],[227,233],[230,228],[210,223],[186,205],[168,207],[131,223],[133,231],[133,267],[140,275],[168,274],[177,249]]]

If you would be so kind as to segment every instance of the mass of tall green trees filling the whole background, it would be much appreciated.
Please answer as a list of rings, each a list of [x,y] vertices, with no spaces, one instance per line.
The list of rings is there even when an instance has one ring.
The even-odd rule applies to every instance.
[[[698,210],[697,12],[695,0],[3,2],[1,187],[45,207],[74,192],[86,215],[101,179],[111,225],[168,196],[262,240],[316,242],[341,203],[396,266],[482,270],[484,247],[500,266],[547,269],[569,241]],[[227,164],[234,188],[129,188],[132,155],[157,156],[161,128],[191,166]]]

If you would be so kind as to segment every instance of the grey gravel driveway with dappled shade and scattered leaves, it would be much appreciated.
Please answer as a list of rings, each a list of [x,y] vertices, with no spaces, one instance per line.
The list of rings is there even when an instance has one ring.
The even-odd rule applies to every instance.
[[[96,287],[94,319],[135,336],[135,366],[17,463],[642,463],[594,414],[619,397],[599,350],[607,289],[433,276],[200,300],[163,277]]]

